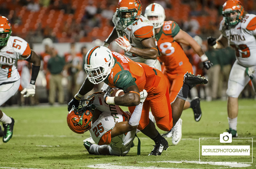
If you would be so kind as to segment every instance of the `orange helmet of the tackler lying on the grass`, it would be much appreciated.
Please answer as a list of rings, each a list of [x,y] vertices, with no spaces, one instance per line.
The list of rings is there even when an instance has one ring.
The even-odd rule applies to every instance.
[[[83,106],[82,102],[85,102],[86,105]],[[88,99],[81,100],[78,107],[73,106],[67,115],[67,125],[69,128],[78,134],[83,134],[90,130],[94,109],[95,106],[90,104]]]

